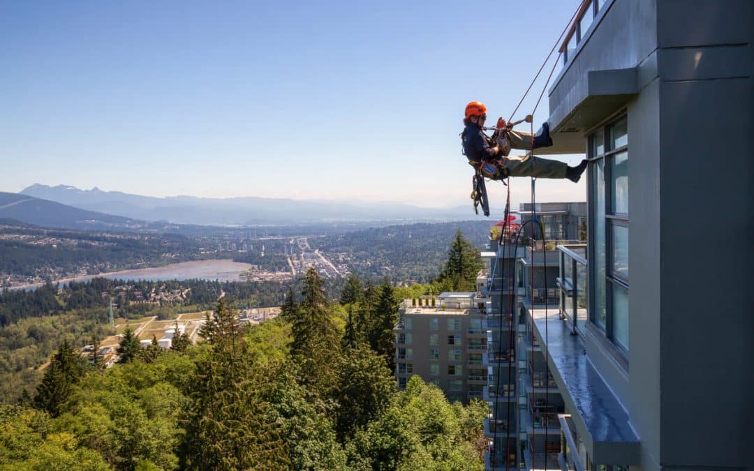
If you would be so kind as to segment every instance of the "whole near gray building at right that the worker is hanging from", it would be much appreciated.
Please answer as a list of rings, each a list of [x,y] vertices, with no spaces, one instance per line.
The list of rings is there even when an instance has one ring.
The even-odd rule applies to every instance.
[[[588,242],[556,246],[557,309],[519,299],[489,469],[751,469],[752,35],[750,0],[583,3],[548,121],[590,161]]]

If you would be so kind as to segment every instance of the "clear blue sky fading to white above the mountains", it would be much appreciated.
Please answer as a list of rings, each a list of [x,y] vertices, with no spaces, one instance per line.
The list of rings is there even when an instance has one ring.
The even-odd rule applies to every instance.
[[[0,2],[0,191],[466,204],[465,104],[507,118],[577,4]]]

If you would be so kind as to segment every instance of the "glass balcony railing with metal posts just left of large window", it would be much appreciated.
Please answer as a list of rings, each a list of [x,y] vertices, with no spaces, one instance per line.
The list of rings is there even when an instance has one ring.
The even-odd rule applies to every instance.
[[[559,245],[559,289],[560,312],[568,319],[577,333],[579,323],[589,319],[587,310],[587,246],[584,243]]]

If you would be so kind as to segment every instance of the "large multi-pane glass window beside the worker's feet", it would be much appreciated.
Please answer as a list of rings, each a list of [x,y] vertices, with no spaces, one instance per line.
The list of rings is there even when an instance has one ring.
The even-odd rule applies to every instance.
[[[624,352],[629,350],[628,146],[625,116],[589,137],[590,316]]]

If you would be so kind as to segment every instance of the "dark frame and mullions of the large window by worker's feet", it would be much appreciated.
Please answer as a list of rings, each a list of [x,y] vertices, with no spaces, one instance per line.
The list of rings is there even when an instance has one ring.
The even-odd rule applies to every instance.
[[[614,244],[614,237],[613,237],[613,230],[615,227],[624,227],[629,228],[629,221],[630,221],[630,206],[628,207],[628,213],[616,213],[612,210],[613,208],[613,185],[615,182],[613,182],[613,175],[610,165],[610,159],[613,158],[616,154],[621,154],[623,152],[627,152],[628,159],[629,159],[629,165],[630,165],[630,150],[629,150],[629,143],[625,145],[621,145],[618,147],[613,148],[613,140],[611,139],[610,131],[613,127],[615,127],[615,124],[620,123],[621,121],[626,121],[626,136],[627,140],[630,139],[629,133],[628,133],[628,115],[626,110],[621,110],[621,112],[618,112],[617,114],[611,116],[608,120],[603,122],[602,124],[599,124],[598,127],[595,127],[593,130],[590,131],[590,133],[587,133],[587,159],[590,164],[589,168],[589,188],[595,188],[595,176],[593,172],[593,167],[599,162],[602,161],[602,181],[604,182],[604,185],[602,188],[603,194],[602,194],[602,200],[603,200],[603,207],[604,207],[604,214],[602,215],[596,215],[596,201],[595,201],[595,195],[593,191],[587,192],[587,200],[588,200],[588,211],[587,211],[587,241],[588,241],[588,258],[590,259],[590,263],[587,267],[588,269],[588,277],[589,277],[589,283],[588,283],[588,302],[589,302],[589,324],[592,327],[593,332],[598,332],[600,335],[602,335],[602,338],[605,338],[607,341],[606,343],[609,344],[611,347],[615,347],[615,351],[618,352],[619,356],[623,360],[622,363],[627,368],[627,360],[628,360],[628,354],[629,354],[629,347],[627,345],[621,344],[618,340],[615,338],[615,313],[613,310],[613,287],[616,286],[619,289],[624,289],[626,294],[628,295],[630,291],[630,268],[628,271],[628,277],[624,277],[622,274],[615,273],[614,270],[614,256],[613,252],[615,251],[615,244]],[[594,142],[596,141],[597,137],[602,137],[602,153],[596,154],[596,145],[594,145]],[[597,218],[602,217],[605,220],[605,228],[604,228],[604,236],[605,236],[605,243],[604,243],[604,265],[605,265],[605,326],[604,329],[602,326],[599,325],[599,323],[596,322],[596,295],[597,295],[597,273],[596,268],[599,263],[596,260],[596,245],[598,241],[595,239],[594,234],[594,228],[596,227]],[[630,242],[630,238],[629,238]],[[630,332],[629,332],[629,338],[630,338]]]

